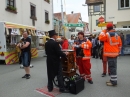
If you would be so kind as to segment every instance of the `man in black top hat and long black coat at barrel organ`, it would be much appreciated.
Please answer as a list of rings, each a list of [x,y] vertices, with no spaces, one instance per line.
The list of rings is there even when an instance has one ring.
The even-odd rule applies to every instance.
[[[63,53],[59,46],[59,43],[56,42],[57,33],[55,30],[48,31],[50,39],[45,43],[45,52],[47,55],[47,76],[48,76],[48,91],[53,91],[53,80],[57,76],[59,91],[62,93],[68,93],[68,90],[65,89],[63,74],[62,74],[62,65],[60,62],[60,57],[66,57],[68,53]]]

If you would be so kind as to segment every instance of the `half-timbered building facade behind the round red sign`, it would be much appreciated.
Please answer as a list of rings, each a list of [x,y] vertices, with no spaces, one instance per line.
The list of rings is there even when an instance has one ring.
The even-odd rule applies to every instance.
[[[105,18],[105,5],[103,0],[86,0],[88,5],[89,31],[92,33],[103,28],[98,27],[100,17]]]

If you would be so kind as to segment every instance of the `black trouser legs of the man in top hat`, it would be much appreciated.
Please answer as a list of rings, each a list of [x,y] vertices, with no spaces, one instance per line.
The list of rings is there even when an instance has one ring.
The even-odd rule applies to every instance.
[[[57,75],[57,79],[58,79],[58,85],[61,91],[63,91],[65,89],[64,87],[64,81],[63,81],[63,73],[62,73],[62,65],[60,64],[58,67],[58,75]],[[53,89],[53,78],[48,76],[48,89],[52,90]]]

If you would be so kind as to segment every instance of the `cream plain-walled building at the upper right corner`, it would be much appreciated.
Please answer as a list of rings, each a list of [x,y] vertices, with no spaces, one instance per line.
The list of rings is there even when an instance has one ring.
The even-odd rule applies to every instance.
[[[106,21],[116,28],[130,28],[130,0],[105,0]]]

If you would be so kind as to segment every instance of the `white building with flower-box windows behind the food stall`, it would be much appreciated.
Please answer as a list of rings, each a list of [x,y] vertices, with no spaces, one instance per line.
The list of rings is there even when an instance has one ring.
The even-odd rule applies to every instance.
[[[1,0],[0,21],[35,26],[38,30],[53,29],[52,0]]]

